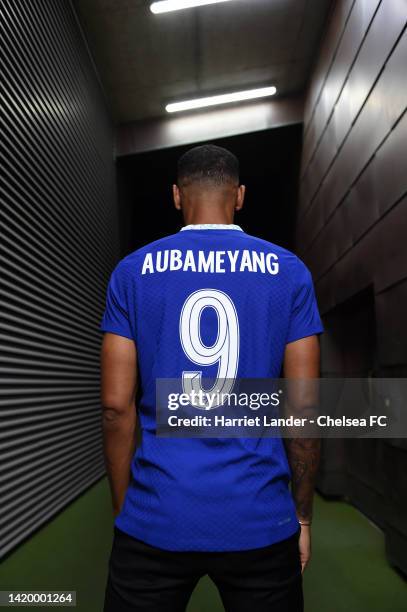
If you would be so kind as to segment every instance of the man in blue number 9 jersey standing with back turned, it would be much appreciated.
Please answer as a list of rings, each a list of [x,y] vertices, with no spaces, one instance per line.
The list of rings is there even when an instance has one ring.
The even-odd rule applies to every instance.
[[[318,442],[155,435],[157,378],[319,376],[311,275],[233,224],[244,194],[232,153],[191,149],[173,186],[185,226],[125,257],[109,282],[102,405],[115,527],[105,612],[182,612],[206,574],[227,612],[303,609]]]

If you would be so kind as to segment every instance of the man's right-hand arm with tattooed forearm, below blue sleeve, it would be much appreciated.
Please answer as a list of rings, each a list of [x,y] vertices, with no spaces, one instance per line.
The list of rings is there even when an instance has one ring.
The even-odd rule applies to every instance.
[[[315,410],[316,385],[312,379],[319,377],[319,340],[309,336],[290,342],[284,354],[284,376],[294,379],[289,385],[290,414],[309,416]],[[292,472],[291,491],[301,523],[300,556],[302,569],[311,557],[312,502],[315,480],[319,466],[320,440],[318,438],[287,438],[287,458]]]

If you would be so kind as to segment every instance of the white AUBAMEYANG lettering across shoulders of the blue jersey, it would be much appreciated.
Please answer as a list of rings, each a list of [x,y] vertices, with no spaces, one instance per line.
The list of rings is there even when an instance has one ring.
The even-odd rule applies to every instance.
[[[141,274],[155,272],[204,272],[223,274],[225,272],[261,272],[278,274],[278,256],[275,253],[250,251],[192,251],[167,249],[147,253]]]

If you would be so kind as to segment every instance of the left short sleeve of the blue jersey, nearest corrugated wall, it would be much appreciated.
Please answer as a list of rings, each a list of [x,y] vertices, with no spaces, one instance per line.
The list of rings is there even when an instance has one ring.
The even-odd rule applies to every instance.
[[[128,282],[125,268],[119,263],[107,286],[106,306],[99,329],[134,340],[128,312]]]

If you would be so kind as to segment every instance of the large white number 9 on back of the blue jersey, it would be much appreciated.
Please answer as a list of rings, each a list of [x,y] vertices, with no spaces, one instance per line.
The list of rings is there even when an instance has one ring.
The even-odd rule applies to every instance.
[[[218,318],[218,335],[211,346],[201,339],[201,315],[205,308],[213,308]],[[218,373],[211,389],[202,388],[202,370],[183,371],[182,387],[184,393],[205,394],[230,393],[235,382],[239,363],[239,320],[235,305],[230,297],[218,289],[194,291],[185,300],[181,310],[179,333],[185,355],[197,365],[210,366],[218,363]],[[200,394],[202,398],[202,393]],[[193,398],[194,396],[192,396]],[[199,398],[191,401],[196,408],[216,408],[222,403],[214,401],[210,406]]]

